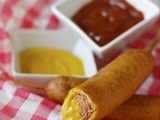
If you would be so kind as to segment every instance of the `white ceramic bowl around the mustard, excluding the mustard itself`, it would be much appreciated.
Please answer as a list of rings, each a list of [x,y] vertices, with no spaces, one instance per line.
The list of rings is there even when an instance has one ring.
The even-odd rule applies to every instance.
[[[12,71],[17,80],[44,85],[59,74],[26,74],[21,73],[18,53],[30,47],[49,47],[69,51],[83,62],[85,76],[91,77],[97,72],[92,51],[79,40],[68,28],[56,31],[14,30],[11,32],[13,43]]]

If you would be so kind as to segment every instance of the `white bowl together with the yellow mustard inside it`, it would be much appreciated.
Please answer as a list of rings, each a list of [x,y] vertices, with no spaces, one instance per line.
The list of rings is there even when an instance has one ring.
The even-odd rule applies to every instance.
[[[12,31],[14,77],[45,85],[60,75],[93,76],[97,68],[92,51],[71,32],[69,28]]]

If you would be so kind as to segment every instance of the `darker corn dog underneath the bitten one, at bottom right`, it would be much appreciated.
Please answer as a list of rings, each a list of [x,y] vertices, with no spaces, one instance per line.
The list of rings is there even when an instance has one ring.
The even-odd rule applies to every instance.
[[[160,96],[133,95],[102,120],[160,120]]]

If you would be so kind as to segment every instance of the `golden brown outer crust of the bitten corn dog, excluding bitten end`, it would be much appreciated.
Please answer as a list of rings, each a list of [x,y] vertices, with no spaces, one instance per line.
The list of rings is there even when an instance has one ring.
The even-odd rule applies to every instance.
[[[111,113],[127,100],[148,77],[154,59],[145,50],[125,52],[100,70],[94,77],[76,87],[96,105],[94,119]]]

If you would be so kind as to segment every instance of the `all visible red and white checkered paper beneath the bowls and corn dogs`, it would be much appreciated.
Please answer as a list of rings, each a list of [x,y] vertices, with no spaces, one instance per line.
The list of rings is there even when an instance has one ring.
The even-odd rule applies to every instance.
[[[9,32],[15,28],[58,29],[61,24],[51,13],[54,0],[2,0],[0,3],[0,77],[12,77],[11,39]],[[65,27],[65,26],[64,26]],[[144,47],[160,28],[160,19],[129,48]],[[101,68],[122,50],[115,51],[107,60],[95,57]],[[153,73],[137,91],[141,94],[160,95],[160,47],[155,49],[156,65]],[[30,91],[30,92],[29,92]],[[34,94],[13,82],[0,80],[0,120],[61,120],[61,106],[43,96]]]

